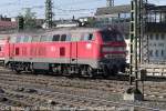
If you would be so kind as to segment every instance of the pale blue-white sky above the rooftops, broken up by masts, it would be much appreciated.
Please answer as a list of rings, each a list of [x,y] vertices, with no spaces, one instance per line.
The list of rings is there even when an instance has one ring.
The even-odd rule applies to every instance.
[[[0,13],[8,17],[15,17],[23,11],[23,8],[32,8],[38,18],[44,18],[45,0],[1,0]],[[53,0],[54,18],[72,18],[93,16],[96,8],[105,7],[106,0]],[[115,4],[128,4],[131,0],[115,0]],[[148,0],[151,3],[166,6],[166,0]]]

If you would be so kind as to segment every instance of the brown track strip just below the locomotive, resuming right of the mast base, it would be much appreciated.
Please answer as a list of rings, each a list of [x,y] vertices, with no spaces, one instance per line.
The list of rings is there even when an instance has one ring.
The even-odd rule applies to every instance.
[[[107,91],[112,93],[124,93],[126,90],[126,87],[128,85],[127,81],[115,81],[115,80],[79,80],[79,79],[68,79],[68,78],[61,78],[61,77],[46,77],[46,75],[27,75],[27,74],[1,74],[0,75],[1,81],[13,81],[21,82],[21,83],[29,83],[29,84],[35,84],[40,85],[42,88],[52,88],[54,87],[62,87],[62,88],[77,88],[77,89],[93,89],[93,90],[100,90],[100,91]],[[166,99],[166,85],[165,82],[147,82],[144,87],[144,95],[147,99]]]

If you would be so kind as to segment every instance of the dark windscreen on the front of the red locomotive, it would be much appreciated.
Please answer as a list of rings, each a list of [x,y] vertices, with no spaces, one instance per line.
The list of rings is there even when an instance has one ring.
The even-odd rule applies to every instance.
[[[102,39],[105,42],[110,41],[124,41],[123,36],[115,30],[103,30],[101,31]]]

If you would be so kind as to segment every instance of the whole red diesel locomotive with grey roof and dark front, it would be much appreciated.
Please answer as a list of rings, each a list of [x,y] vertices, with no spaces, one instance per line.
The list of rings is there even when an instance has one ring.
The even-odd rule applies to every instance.
[[[20,71],[104,77],[125,69],[126,43],[114,29],[64,28],[17,33],[6,44],[6,67]]]

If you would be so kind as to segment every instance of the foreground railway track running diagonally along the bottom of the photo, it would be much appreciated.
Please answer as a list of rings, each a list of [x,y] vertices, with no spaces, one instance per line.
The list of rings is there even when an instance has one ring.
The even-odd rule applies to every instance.
[[[81,109],[84,110],[98,110],[98,109],[101,110],[106,109],[110,111],[115,111],[120,109],[128,109],[128,110],[137,109],[138,111],[158,110],[158,109],[142,107],[132,103],[123,103],[123,102],[121,103],[121,102],[114,102],[105,99],[75,95],[75,94],[62,93],[58,91],[51,92],[51,91],[45,91],[37,88],[35,91],[38,93],[25,93],[23,92],[23,90],[18,92],[14,89],[17,88],[17,85],[10,85],[10,87],[8,84],[2,84],[2,85],[4,87],[3,89],[8,94],[8,98],[12,98],[15,107],[21,107],[21,108],[31,107],[33,109],[39,105],[39,109],[42,108],[46,110],[53,110],[51,108],[68,107],[69,109],[72,109],[72,108],[80,108],[82,105]]]

